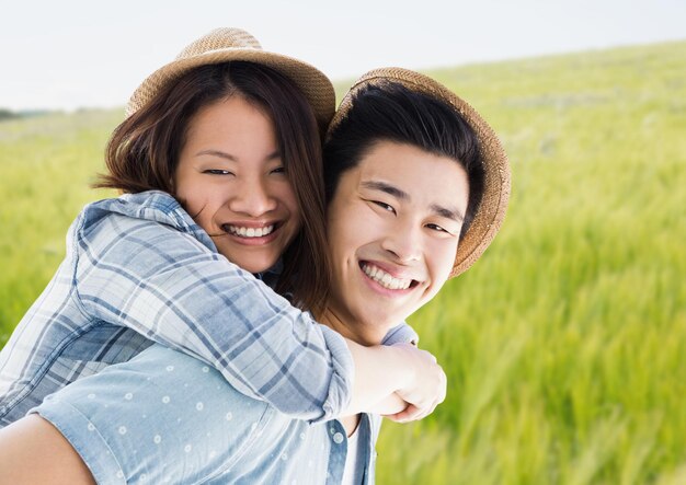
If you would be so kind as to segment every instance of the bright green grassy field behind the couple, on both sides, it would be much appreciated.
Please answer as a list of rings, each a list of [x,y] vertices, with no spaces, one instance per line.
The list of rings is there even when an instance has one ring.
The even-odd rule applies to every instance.
[[[501,135],[513,196],[484,257],[411,320],[448,397],[385,424],[379,483],[686,483],[685,53],[430,72]],[[0,346],[108,195],[88,184],[121,117],[0,123]]]

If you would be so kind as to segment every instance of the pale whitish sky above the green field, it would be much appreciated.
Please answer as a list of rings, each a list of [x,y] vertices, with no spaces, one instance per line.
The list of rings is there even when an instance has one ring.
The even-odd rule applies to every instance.
[[[14,111],[124,106],[220,26],[333,80],[686,39],[685,0],[0,0],[0,108]]]

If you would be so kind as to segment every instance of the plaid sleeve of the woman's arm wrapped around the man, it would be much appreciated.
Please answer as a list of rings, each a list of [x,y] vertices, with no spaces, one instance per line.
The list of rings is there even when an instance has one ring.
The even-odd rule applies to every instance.
[[[75,298],[92,321],[194,356],[241,393],[298,419],[351,399],[345,340],[192,235],[112,215],[71,241]]]

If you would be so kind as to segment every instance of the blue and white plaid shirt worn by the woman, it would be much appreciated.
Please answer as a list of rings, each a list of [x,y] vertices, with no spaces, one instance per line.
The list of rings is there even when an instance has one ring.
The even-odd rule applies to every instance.
[[[168,194],[87,206],[67,256],[0,353],[0,427],[151,345],[216,368],[247,396],[325,420],[347,404],[343,338],[227,261]]]

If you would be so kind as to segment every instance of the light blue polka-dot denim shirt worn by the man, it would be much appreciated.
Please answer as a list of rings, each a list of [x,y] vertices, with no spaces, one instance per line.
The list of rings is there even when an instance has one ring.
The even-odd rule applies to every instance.
[[[409,342],[397,327],[385,344]],[[33,412],[60,430],[99,484],[339,484],[342,424],[294,419],[199,360],[153,345],[48,396]],[[381,418],[362,415],[355,483],[374,483]]]

